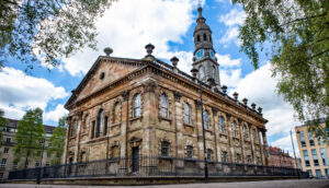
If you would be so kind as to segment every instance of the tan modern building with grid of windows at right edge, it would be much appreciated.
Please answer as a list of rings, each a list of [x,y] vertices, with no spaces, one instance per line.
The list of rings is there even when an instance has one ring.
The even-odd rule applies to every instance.
[[[325,127],[325,120],[320,124]],[[329,177],[329,146],[325,140],[309,131],[307,124],[295,127],[295,132],[303,171],[314,177]]]

